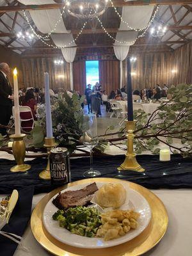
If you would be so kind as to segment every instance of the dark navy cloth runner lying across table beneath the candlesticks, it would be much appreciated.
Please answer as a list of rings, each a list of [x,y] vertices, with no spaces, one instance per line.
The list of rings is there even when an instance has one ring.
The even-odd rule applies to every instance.
[[[93,166],[102,173],[101,177],[129,180],[150,189],[159,188],[192,188],[192,159],[173,155],[168,162],[159,161],[159,156],[137,156],[138,163],[145,168],[145,172],[123,171],[116,168],[123,163],[124,155],[120,156],[95,156]],[[11,193],[13,189],[22,189],[35,186],[35,193],[49,192],[54,189],[49,180],[41,180],[38,174],[44,170],[47,160],[34,159],[26,161],[31,164],[31,169],[24,173],[12,173],[10,168],[15,161],[0,159],[0,193]],[[72,181],[84,179],[83,172],[88,170],[89,157],[71,159]]]

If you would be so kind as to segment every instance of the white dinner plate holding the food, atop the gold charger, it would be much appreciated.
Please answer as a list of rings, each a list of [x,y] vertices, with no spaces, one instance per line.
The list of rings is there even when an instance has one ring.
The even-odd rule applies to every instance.
[[[70,188],[64,189],[61,192],[63,193],[64,191],[68,190],[81,189],[88,184],[72,186]],[[100,188],[104,184],[106,184],[106,182],[97,182],[97,187]],[[134,209],[134,211],[140,212],[140,218],[138,219],[139,225],[138,228],[136,228],[135,230],[131,230],[124,236],[109,241],[104,241],[101,237],[84,237],[72,234],[66,228],[61,228],[58,221],[52,220],[52,215],[54,214],[54,212],[58,211],[58,208],[54,204],[52,204],[52,200],[56,196],[53,196],[45,206],[43,218],[45,228],[54,238],[58,239],[58,241],[61,241],[61,243],[69,244],[71,246],[79,248],[106,248],[122,244],[133,239],[134,237],[141,234],[141,232],[143,232],[143,230],[148,226],[151,218],[150,206],[148,205],[147,200],[140,193],[133,189],[130,189],[129,186],[125,186],[125,183],[122,183],[122,185],[127,191],[127,199],[125,204],[122,205],[120,209]]]

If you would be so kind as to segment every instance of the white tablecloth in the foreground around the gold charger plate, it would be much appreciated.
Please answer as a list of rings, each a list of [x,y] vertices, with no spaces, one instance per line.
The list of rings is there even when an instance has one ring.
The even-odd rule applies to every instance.
[[[145,256],[190,256],[192,252],[192,190],[158,189],[152,190],[152,192],[159,196],[166,206],[169,216],[169,225],[161,242],[152,250],[145,253]],[[33,196],[33,208],[44,195],[45,194],[39,194]],[[23,237],[23,245],[28,248],[29,253],[24,252],[19,246],[14,256],[51,255],[36,242],[29,225]],[[70,256],[70,253],[68,253],[68,256]]]

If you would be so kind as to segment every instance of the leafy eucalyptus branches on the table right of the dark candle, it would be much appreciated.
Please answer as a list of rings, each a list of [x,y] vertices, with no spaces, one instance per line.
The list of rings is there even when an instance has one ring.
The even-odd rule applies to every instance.
[[[147,150],[158,154],[160,149],[157,146],[164,143],[173,154],[192,155],[192,84],[179,84],[170,88],[168,93],[172,95],[172,100],[161,102],[151,115],[141,109],[134,111],[137,154]],[[118,138],[109,141],[126,140],[125,128],[115,134]],[[103,136],[111,136],[111,133]],[[179,140],[179,146],[174,145],[174,139]]]

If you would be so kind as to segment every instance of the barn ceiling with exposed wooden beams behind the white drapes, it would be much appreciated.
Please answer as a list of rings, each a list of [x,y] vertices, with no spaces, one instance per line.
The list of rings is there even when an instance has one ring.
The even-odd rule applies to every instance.
[[[58,3],[58,1],[56,2]],[[133,3],[136,4],[136,2],[141,1],[134,1]],[[157,1],[157,3],[159,2],[160,1]],[[154,47],[159,47],[159,49],[161,48],[173,51],[192,39],[192,1],[191,3],[184,0],[182,2],[175,1],[177,3],[179,2],[180,4],[173,4],[173,1],[166,0],[161,2],[166,4],[160,5],[156,18],[151,26],[157,24],[166,25],[168,30],[166,31],[165,35],[161,38],[152,38],[150,33],[147,32],[143,38],[136,41],[134,46],[145,49],[147,45],[154,45]],[[126,3],[130,4],[131,2]],[[17,8],[17,10],[15,8]],[[58,8],[60,8],[59,5]],[[35,25],[33,24],[33,20],[29,15],[28,8],[26,8],[26,10],[30,23],[32,24],[33,28],[36,29]],[[121,11],[122,7],[119,6],[118,12],[121,13]],[[116,31],[120,25],[120,19],[116,15],[114,9],[108,8],[100,19],[102,20],[104,27],[108,29],[113,37],[115,37]],[[63,14],[63,20],[66,28],[72,30],[73,34],[77,34],[83,25],[81,20],[77,20],[76,18],[66,15],[65,13]],[[38,38],[34,38],[32,42],[21,42],[18,40],[16,35],[24,26],[28,25],[24,19],[19,2],[17,2],[17,0],[0,0],[0,44],[19,54],[23,54],[23,52],[26,50],[30,51],[35,49],[38,51],[44,49],[45,45],[39,42]],[[40,34],[38,29],[36,29],[36,33]],[[51,40],[48,42],[52,44]],[[103,33],[102,29],[100,28],[100,24],[93,20],[92,22],[88,22],[86,28],[84,29],[83,35],[79,36],[76,44],[83,49],[86,47],[91,48],[95,45],[102,48],[111,47],[113,45],[113,40]],[[49,47],[45,47],[45,49],[47,48]]]

